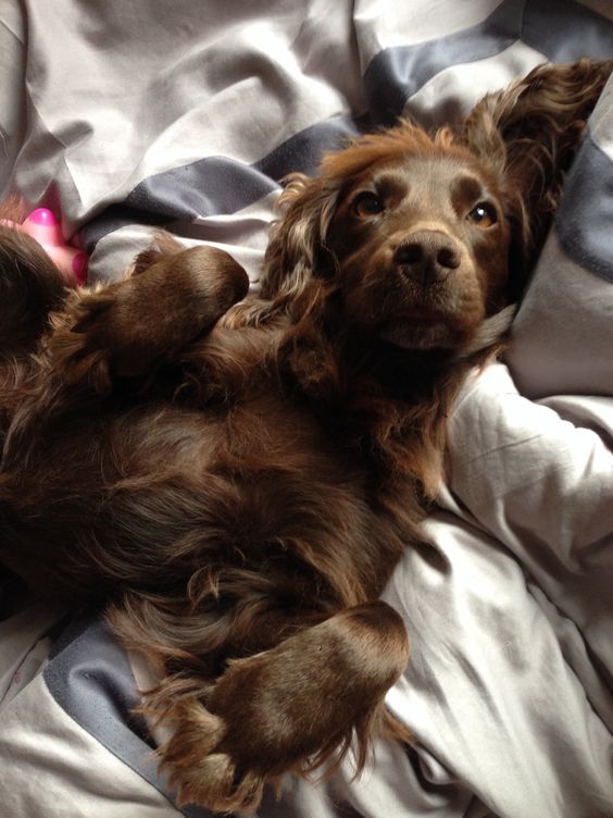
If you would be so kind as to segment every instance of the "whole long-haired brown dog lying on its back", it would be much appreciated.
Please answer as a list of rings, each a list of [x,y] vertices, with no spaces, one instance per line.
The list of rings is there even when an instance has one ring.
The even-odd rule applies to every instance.
[[[406,635],[377,597],[610,71],[540,69],[455,134],[402,123],[295,176],[261,299],[166,236],[66,295],[1,231],[0,558],[104,606],[157,666],[183,802],[254,808],[287,771],[403,736],[384,696]]]

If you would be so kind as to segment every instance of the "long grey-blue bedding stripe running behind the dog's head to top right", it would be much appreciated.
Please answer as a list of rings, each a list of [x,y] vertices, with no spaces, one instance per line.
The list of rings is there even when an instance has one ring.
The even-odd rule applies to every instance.
[[[373,58],[363,78],[366,114],[317,123],[253,164],[207,157],[150,176],[122,203],[85,225],[80,240],[91,252],[100,238],[125,225],[170,225],[236,213],[276,189],[287,173],[312,173],[322,152],[341,146],[347,137],[393,123],[406,100],[440,71],[493,57],[517,39],[552,61],[611,55],[613,23],[572,0],[559,0],[554,10],[547,0],[504,0],[476,26],[417,46],[389,48]]]

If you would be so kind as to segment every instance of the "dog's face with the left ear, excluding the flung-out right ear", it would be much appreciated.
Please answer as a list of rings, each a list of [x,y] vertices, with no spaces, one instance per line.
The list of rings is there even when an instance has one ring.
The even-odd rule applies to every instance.
[[[508,299],[512,199],[495,163],[409,123],[296,175],[264,294],[325,280],[346,322],[405,349],[460,349]],[[336,301],[338,303],[338,299]]]

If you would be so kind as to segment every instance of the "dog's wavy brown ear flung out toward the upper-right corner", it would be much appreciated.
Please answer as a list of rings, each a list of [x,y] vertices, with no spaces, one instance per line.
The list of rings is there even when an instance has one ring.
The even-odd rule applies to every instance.
[[[486,96],[466,117],[460,141],[501,179],[512,228],[511,263],[521,289],[540,251],[564,176],[613,61],[545,64]],[[523,273],[523,275],[522,275]]]

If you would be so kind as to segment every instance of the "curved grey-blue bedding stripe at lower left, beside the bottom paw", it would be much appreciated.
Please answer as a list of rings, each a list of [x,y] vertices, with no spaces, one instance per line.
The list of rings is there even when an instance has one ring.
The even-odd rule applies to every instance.
[[[187,818],[212,818],[199,807],[177,807],[146,741],[145,720],[132,712],[140,699],[127,656],[100,619],[73,621],[55,642],[45,682],[55,702],[107,749],[164,795]]]

